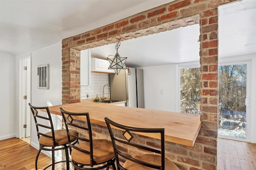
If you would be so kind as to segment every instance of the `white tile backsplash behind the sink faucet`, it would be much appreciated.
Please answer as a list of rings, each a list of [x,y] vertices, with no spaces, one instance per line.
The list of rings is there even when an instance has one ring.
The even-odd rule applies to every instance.
[[[98,94],[98,97],[102,97],[102,90],[105,84],[108,84],[110,86],[110,80],[109,80],[109,74],[106,73],[96,73],[91,72],[91,82],[90,86],[81,86],[81,94],[80,94],[80,100],[89,99],[87,98],[87,93],[89,93],[90,98],[96,98],[96,95]],[[104,90],[104,96],[109,96],[108,87],[105,87]]]

